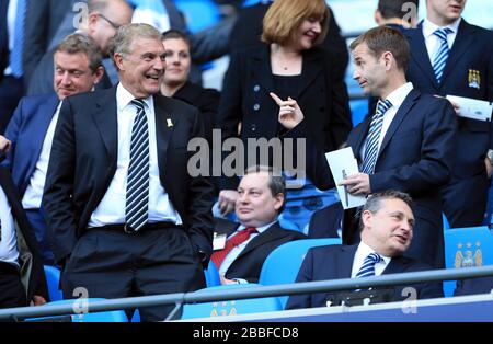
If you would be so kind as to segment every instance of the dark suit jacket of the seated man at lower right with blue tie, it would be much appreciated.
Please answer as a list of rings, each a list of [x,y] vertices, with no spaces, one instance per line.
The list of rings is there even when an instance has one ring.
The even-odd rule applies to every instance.
[[[310,249],[299,270],[296,283],[351,278],[354,255],[358,245],[329,245]],[[410,273],[431,270],[431,266],[419,263],[412,259],[399,256],[393,257],[387,265],[382,275]],[[415,284],[409,286],[397,286],[393,300],[404,300],[402,289],[413,287],[419,299],[443,297],[442,283]],[[325,307],[326,301],[334,298],[333,293],[317,293],[311,295],[294,295],[289,297],[286,309]]]

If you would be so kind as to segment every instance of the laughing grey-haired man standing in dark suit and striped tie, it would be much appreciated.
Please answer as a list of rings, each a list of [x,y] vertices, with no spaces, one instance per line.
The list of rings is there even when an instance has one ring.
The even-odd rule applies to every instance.
[[[187,170],[203,137],[195,107],[161,96],[161,34],[122,26],[114,38],[121,82],[64,101],[43,203],[65,297],[77,287],[118,298],[205,287],[213,251],[213,185]],[[173,307],[140,309],[145,321]]]

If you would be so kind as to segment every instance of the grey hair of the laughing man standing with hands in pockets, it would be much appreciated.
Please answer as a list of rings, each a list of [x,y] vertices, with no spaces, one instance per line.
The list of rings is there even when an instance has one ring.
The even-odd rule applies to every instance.
[[[149,24],[127,24],[122,25],[116,35],[110,42],[111,56],[115,54],[126,58],[131,54],[131,44],[136,38],[157,39],[161,42],[161,33]]]

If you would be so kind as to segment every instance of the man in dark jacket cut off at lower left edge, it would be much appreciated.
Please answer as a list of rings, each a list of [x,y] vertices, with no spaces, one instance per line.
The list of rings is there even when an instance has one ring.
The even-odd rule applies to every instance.
[[[10,144],[0,140],[3,152]],[[5,146],[7,144],[7,146]],[[48,298],[34,230],[8,169],[0,167],[0,308],[45,303]]]

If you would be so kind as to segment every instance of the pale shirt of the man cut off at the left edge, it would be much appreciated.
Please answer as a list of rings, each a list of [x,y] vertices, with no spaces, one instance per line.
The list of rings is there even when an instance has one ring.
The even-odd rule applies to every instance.
[[[12,208],[7,199],[7,195],[0,187],[0,262],[11,263],[19,267],[18,237],[15,233],[15,222],[12,216]]]

